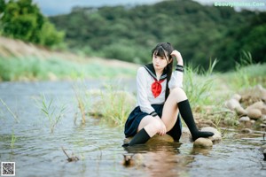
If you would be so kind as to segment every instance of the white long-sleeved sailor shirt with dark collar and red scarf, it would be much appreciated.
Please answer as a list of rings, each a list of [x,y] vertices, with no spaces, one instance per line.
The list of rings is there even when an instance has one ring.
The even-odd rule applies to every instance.
[[[183,88],[183,65],[176,65],[172,73],[168,88]],[[157,80],[153,64],[144,65],[137,70],[137,106],[142,112],[156,116],[152,104],[164,104],[167,84],[167,73],[163,72]]]

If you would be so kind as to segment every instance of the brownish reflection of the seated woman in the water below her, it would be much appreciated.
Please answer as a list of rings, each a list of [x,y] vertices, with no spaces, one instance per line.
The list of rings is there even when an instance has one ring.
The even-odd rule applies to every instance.
[[[132,154],[131,164],[143,168],[148,176],[179,176],[186,173],[186,165],[193,161],[193,156],[180,153],[179,142],[158,142],[125,147]]]

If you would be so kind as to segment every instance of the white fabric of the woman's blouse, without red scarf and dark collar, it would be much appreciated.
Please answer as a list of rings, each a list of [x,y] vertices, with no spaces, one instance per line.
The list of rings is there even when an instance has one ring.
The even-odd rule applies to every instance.
[[[180,67],[183,69],[183,66],[176,66],[176,68]],[[167,79],[161,82],[160,95],[155,98],[152,92],[154,75],[152,76],[150,73],[145,69],[145,66],[141,66],[137,70],[137,106],[140,107],[142,112],[147,112],[148,114],[154,112],[151,104],[164,104],[167,84]],[[170,90],[178,87],[183,87],[183,72],[180,70],[176,70],[174,73],[172,73],[171,79],[168,82],[168,88]]]

